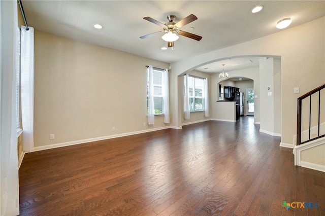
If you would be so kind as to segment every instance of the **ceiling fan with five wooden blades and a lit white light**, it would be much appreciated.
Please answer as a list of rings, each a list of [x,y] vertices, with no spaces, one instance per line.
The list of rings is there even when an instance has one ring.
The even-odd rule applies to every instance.
[[[202,37],[199,36],[199,35],[192,34],[192,33],[189,33],[187,31],[179,30],[180,27],[182,27],[182,26],[184,26],[184,25],[186,25],[186,24],[188,24],[190,22],[193,22],[193,21],[197,20],[198,17],[194,16],[193,14],[190,14],[187,17],[185,17],[184,19],[178,21],[177,23],[173,22],[175,18],[176,18],[175,15],[169,15],[167,17],[169,22],[166,23],[166,24],[163,24],[161,22],[158,22],[155,19],[152,19],[151,17],[143,17],[143,19],[148,20],[149,22],[152,22],[152,23],[154,23],[156,25],[159,25],[160,27],[163,27],[164,30],[157,31],[157,32],[147,34],[147,35],[143,35],[140,38],[145,39],[145,38],[149,38],[149,37],[154,36],[154,35],[159,34],[159,33],[165,33],[163,35],[163,37],[161,37],[161,38],[163,38],[164,41],[167,41],[168,47],[174,47],[174,41],[176,41],[178,39],[177,34],[185,36],[185,37],[190,38],[190,39],[197,40],[197,41],[200,41],[202,39]]]

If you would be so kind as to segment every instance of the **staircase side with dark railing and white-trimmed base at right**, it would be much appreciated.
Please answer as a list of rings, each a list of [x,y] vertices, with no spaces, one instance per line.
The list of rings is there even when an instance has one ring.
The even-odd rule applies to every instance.
[[[325,172],[325,84],[298,98],[295,165]]]

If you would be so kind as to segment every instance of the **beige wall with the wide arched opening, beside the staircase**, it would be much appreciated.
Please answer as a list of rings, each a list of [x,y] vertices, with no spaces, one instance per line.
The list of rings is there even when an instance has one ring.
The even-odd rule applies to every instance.
[[[171,66],[175,75],[172,76],[229,57],[281,57],[281,142],[293,145],[297,98],[325,83],[324,29],[325,17],[322,17],[263,38],[174,62]],[[300,87],[300,94],[294,94],[295,87]],[[171,89],[175,87],[171,86]],[[175,114],[173,118],[180,118],[180,115]]]

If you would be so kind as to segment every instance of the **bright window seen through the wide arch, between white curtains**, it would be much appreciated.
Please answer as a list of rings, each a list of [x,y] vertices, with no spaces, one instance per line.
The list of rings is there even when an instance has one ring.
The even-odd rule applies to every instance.
[[[188,76],[189,111],[204,111],[204,79]]]

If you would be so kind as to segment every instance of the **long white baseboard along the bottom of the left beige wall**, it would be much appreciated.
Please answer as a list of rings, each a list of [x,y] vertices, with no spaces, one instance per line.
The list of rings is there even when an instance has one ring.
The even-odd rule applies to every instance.
[[[59,148],[59,147],[73,146],[73,145],[78,145],[78,144],[82,144],[82,143],[86,143],[86,142],[93,142],[93,141],[99,141],[99,140],[104,140],[104,139],[112,139],[112,138],[135,135],[135,134],[140,134],[140,133],[147,133],[147,132],[151,132],[151,131],[164,130],[164,129],[168,129],[168,128],[170,128],[170,127],[169,126],[159,127],[159,128],[148,129],[148,130],[120,133],[120,134],[116,134],[116,135],[108,135],[108,136],[101,136],[101,137],[95,137],[95,138],[89,138],[89,139],[81,139],[81,140],[70,141],[70,142],[61,142],[61,143],[56,143],[56,144],[52,144],[52,145],[35,147],[32,152],[37,152],[37,151],[42,151],[42,150],[47,150],[47,149],[54,149],[54,148]]]

